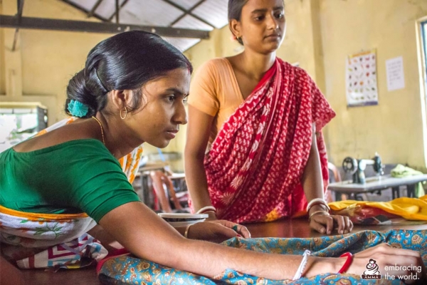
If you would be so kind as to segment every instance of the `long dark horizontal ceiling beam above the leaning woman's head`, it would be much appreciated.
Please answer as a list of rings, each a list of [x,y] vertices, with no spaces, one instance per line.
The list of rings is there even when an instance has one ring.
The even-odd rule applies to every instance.
[[[51,31],[81,31],[88,33],[121,33],[122,31],[148,31],[159,36],[174,38],[209,38],[209,31],[188,28],[167,28],[161,26],[138,26],[90,21],[70,21],[59,19],[32,18],[0,15],[1,28],[33,28]]]

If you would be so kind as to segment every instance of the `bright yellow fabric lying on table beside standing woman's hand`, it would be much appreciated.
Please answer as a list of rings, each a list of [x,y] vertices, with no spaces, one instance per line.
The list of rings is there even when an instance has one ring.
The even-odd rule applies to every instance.
[[[339,211],[352,205],[379,208],[405,219],[427,221],[427,195],[419,198],[401,197],[390,202],[344,200],[329,203],[330,208],[334,211]]]

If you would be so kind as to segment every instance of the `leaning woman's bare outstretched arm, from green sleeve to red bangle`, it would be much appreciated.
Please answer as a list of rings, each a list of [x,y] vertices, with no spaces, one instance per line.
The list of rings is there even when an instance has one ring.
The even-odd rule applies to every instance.
[[[268,279],[290,279],[302,260],[302,256],[264,254],[186,239],[140,202],[112,209],[100,224],[139,258],[208,277],[234,269]],[[339,260],[311,257],[303,276],[335,272]]]

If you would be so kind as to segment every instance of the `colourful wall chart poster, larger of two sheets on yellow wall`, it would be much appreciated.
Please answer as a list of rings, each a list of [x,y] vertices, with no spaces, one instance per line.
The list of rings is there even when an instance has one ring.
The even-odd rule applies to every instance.
[[[346,89],[349,107],[378,105],[375,49],[348,56]]]

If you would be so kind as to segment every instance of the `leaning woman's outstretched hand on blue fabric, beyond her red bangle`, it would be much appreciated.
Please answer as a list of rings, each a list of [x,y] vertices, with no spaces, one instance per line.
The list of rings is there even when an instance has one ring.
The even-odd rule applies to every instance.
[[[370,262],[378,265],[381,279],[384,279],[387,274],[390,276],[387,278],[394,276],[395,279],[399,279],[399,276],[407,276],[407,279],[402,280],[405,284],[426,284],[427,282],[426,266],[424,266],[419,252],[396,249],[389,244],[379,244],[354,254],[352,265],[347,273],[362,275]]]

